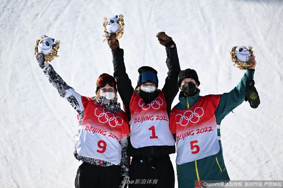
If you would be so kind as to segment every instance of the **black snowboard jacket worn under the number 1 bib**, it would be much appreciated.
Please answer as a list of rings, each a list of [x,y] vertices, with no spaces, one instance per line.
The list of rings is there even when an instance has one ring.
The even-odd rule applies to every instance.
[[[178,93],[178,75],[181,71],[180,63],[178,59],[177,48],[165,48],[167,59],[166,65],[168,67],[167,77],[165,84],[162,88],[164,93],[165,101],[167,104],[167,113],[169,115],[171,111],[171,105]],[[124,50],[118,48],[116,51],[112,50],[113,56],[113,67],[114,67],[114,78],[117,81],[117,89],[119,95],[124,103],[125,112],[127,113],[128,119],[131,119],[130,113],[130,100],[133,95],[134,88],[131,80],[126,73],[126,67],[124,63]],[[128,156],[134,157],[162,157],[175,153],[175,146],[146,146],[141,148],[134,148],[130,142],[130,136],[128,138]]]

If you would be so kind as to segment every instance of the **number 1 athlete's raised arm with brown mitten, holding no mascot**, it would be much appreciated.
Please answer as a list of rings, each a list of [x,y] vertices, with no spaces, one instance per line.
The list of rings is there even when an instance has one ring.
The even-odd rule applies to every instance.
[[[168,72],[162,91],[167,103],[167,113],[169,114],[171,111],[172,102],[179,91],[178,75],[181,71],[181,68],[177,53],[177,47],[172,38],[167,36],[164,32],[159,32],[158,34],[156,34],[156,37],[158,38],[159,43],[166,47],[166,65],[168,67]]]

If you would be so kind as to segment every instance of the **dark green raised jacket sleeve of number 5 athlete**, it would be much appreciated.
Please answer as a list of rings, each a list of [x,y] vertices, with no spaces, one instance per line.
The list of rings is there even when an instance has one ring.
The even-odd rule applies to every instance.
[[[246,70],[238,85],[230,92],[221,95],[219,105],[214,112],[218,125],[220,125],[222,119],[224,119],[228,113],[245,100],[246,81],[251,79],[254,79],[254,69]]]

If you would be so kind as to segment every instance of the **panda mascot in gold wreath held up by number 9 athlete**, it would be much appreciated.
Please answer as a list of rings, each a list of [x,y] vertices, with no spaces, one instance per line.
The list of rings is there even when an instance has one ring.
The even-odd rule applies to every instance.
[[[57,52],[60,47],[60,40],[55,42],[55,39],[52,39],[46,35],[40,37],[36,40],[35,45],[35,55],[38,53],[43,53],[45,61],[51,62],[54,57],[59,57]]]

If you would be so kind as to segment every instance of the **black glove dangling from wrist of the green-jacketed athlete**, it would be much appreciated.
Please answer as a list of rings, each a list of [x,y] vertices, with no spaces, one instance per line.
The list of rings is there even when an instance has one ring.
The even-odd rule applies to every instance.
[[[245,101],[248,101],[250,103],[251,108],[257,108],[260,104],[259,94],[254,87],[254,80],[246,81]]]

